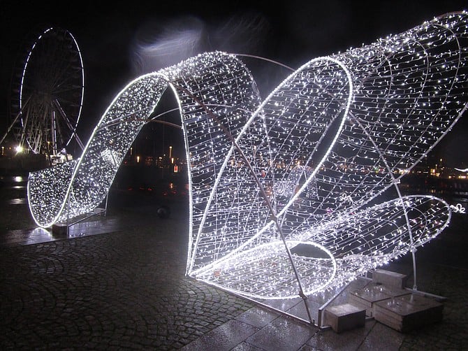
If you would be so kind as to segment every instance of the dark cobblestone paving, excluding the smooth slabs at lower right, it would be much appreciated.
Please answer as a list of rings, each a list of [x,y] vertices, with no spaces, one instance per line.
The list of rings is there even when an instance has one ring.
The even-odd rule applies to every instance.
[[[118,220],[112,233],[19,245],[0,231],[1,350],[177,349],[252,307],[184,276],[185,206],[160,219],[132,204],[94,219]],[[7,208],[3,228],[31,224],[24,202]]]

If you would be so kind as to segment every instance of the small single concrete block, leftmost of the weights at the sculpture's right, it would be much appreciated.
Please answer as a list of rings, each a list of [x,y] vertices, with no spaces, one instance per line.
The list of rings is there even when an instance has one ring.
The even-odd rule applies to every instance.
[[[341,333],[342,331],[364,327],[365,308],[344,303],[337,306],[329,306],[324,310],[324,322],[332,329]]]

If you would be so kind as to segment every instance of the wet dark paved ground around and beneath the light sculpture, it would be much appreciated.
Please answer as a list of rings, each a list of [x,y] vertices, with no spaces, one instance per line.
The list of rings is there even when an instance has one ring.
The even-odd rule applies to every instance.
[[[300,299],[269,308],[186,277],[184,196],[112,190],[105,216],[64,235],[35,226],[24,201],[26,178],[1,181],[1,350],[468,347],[467,215],[454,214],[450,227],[416,253],[418,289],[446,298],[441,322],[400,333],[367,318],[364,327],[337,334],[302,321]],[[161,205],[170,208],[168,218],[155,214]],[[408,274],[412,286],[409,257],[384,268]],[[311,299],[314,313],[318,300]]]

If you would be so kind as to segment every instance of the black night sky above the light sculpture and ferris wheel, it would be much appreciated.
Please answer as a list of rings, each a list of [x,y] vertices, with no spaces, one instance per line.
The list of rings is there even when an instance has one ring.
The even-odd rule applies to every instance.
[[[113,97],[133,78],[200,52],[258,55],[293,68],[322,55],[372,43],[467,1],[11,1],[0,3],[0,131],[8,115],[13,66],[28,35],[70,31],[82,52],[85,98],[78,133],[89,138]],[[148,59],[145,48],[152,45]],[[246,59],[267,96],[288,71]],[[272,71],[275,70],[275,71]],[[468,166],[468,116],[435,152],[448,166]],[[177,133],[175,133],[177,134]],[[460,152],[462,150],[462,152]]]

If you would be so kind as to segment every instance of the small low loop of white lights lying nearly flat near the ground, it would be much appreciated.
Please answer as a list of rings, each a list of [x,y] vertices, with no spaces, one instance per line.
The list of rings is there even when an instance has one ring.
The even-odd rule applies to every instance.
[[[332,253],[310,241],[288,241],[296,248],[293,258],[301,276],[305,294],[310,295],[330,285],[337,273],[337,262]],[[270,274],[265,274],[268,271]],[[264,243],[243,250],[240,254],[214,264],[196,275],[232,292],[242,292],[254,298],[284,299],[298,296],[298,282],[281,241]]]

